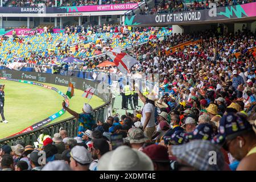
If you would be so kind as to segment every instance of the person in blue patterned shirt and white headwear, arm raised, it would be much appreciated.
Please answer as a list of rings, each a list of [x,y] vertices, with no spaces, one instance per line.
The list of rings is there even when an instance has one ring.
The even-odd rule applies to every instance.
[[[82,107],[82,114],[76,113],[76,111],[69,109],[66,106],[65,101],[63,101],[62,106],[63,106],[63,109],[68,111],[68,113],[76,117],[79,121],[79,129],[78,129],[77,137],[82,137],[82,132],[85,132],[86,130],[92,130],[92,126],[96,124],[93,118],[92,106],[90,106],[89,104],[84,104],[84,107]]]

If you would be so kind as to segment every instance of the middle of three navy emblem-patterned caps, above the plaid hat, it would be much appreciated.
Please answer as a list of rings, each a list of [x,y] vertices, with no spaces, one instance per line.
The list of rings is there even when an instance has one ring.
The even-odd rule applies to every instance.
[[[209,123],[202,123],[196,129],[188,133],[189,140],[211,140],[213,138],[213,128]]]

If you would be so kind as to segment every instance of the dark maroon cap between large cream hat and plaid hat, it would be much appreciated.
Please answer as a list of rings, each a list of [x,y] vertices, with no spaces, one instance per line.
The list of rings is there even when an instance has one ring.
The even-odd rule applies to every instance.
[[[168,156],[168,150],[166,147],[151,144],[143,149],[143,152],[150,157],[153,162],[168,163],[170,162]]]

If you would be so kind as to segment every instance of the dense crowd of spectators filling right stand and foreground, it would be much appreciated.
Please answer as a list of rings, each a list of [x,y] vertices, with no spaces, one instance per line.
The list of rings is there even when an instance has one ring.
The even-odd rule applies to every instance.
[[[105,123],[93,119],[88,104],[77,114],[63,103],[78,118],[77,136],[65,130],[50,136],[44,129],[36,148],[22,140],[1,146],[2,170],[256,170],[255,32],[221,34],[212,29],[158,36],[160,31],[169,32],[138,30],[150,40],[126,49],[139,61],[131,75],[160,75],[160,98],[152,90],[143,94],[121,86],[123,94],[138,94],[142,109],[114,114]],[[179,46],[183,43],[188,44]],[[87,68],[99,62],[94,59]],[[39,152],[45,152],[46,163],[39,162]]]

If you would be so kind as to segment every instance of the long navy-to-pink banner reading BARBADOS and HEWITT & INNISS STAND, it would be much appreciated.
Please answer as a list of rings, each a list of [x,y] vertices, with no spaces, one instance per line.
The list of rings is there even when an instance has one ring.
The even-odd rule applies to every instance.
[[[26,13],[80,13],[93,11],[126,11],[134,9],[138,3],[115,4],[115,5],[90,5],[90,6],[63,6],[63,7],[0,7],[1,14]]]

